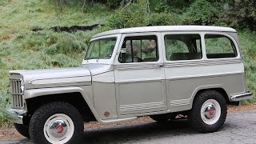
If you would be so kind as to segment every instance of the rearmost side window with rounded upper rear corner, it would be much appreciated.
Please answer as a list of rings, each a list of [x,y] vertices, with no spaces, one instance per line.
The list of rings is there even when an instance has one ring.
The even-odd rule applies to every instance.
[[[230,38],[218,34],[206,34],[205,41],[207,58],[237,57],[237,51]]]

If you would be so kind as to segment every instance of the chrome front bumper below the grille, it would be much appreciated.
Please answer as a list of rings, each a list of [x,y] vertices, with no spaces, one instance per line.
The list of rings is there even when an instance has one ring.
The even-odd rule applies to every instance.
[[[22,118],[23,114],[26,114],[26,110],[19,109],[6,109],[4,110],[4,116],[6,119],[10,120],[10,122],[23,124]]]

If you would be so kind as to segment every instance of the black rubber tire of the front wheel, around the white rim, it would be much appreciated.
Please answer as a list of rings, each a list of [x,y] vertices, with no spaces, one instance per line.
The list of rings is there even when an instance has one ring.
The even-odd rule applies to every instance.
[[[74,125],[72,125],[74,126],[74,134],[66,143],[68,144],[79,143],[82,139],[82,134],[84,129],[82,115],[74,106],[66,102],[50,102],[48,104],[40,106],[38,110],[34,112],[34,114],[32,115],[32,118],[30,119],[30,127],[29,127],[30,138],[32,139],[32,141],[40,144],[51,143],[47,140],[45,136],[46,131],[44,131],[44,126],[46,121],[49,120],[48,118],[50,118],[54,114],[65,114],[74,123]],[[70,122],[67,122],[67,123],[70,124]],[[57,130],[57,126],[56,126],[56,130]],[[67,131],[70,131],[70,130],[67,130]]]

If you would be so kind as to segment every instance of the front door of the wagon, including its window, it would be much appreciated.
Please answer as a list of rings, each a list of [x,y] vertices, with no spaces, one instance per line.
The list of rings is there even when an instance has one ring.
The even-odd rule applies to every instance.
[[[119,116],[167,110],[160,36],[122,36],[114,68]]]

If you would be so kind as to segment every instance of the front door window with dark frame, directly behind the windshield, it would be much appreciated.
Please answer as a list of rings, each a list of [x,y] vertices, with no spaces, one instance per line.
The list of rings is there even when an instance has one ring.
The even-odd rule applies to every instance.
[[[141,36],[126,37],[122,43],[122,49],[118,62],[157,62],[158,61],[158,37]]]

